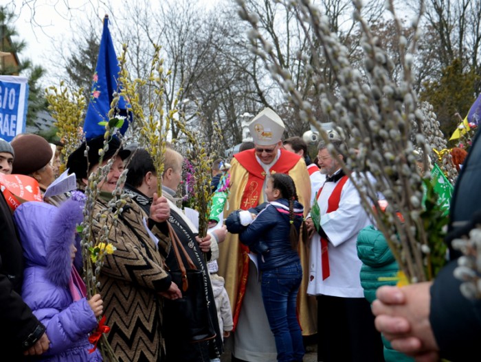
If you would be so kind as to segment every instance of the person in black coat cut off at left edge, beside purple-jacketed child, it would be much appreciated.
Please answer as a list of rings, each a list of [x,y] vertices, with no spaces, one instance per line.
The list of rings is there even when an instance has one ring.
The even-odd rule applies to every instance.
[[[16,236],[10,207],[0,192],[0,350],[12,360],[42,354],[49,348],[45,327],[21,298],[22,246]]]

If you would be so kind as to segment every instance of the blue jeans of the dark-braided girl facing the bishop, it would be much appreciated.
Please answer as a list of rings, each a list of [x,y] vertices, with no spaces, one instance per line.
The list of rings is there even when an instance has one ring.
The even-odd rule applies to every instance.
[[[296,313],[302,280],[300,262],[262,272],[262,300],[274,338],[279,362],[302,361],[304,344]]]

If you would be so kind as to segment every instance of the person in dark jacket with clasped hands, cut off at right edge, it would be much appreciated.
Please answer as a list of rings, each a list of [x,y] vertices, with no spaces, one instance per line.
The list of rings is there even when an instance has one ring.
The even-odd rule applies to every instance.
[[[480,162],[478,132],[454,187],[448,245],[453,239],[468,237],[469,231],[481,224]],[[433,282],[381,287],[372,304],[376,326],[392,341],[392,347],[419,361],[438,361],[440,357],[472,361],[479,357],[481,299],[462,295],[462,281],[454,276],[459,254],[450,252],[451,261]]]

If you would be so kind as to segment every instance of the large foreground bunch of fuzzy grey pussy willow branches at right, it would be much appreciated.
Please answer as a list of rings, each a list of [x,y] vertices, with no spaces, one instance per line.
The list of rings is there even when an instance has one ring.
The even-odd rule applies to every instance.
[[[361,16],[361,2],[355,5],[354,19],[361,30],[364,69],[350,64],[346,47],[331,31],[328,19],[322,16],[311,1],[279,1],[298,19],[306,41],[311,47],[309,61],[304,67],[310,80],[306,89],[294,84],[287,69],[282,68],[276,57],[275,47],[263,36],[258,19],[249,13],[243,0],[238,0],[242,19],[250,23],[249,41],[253,51],[265,62],[273,80],[278,82],[288,100],[300,109],[301,117],[320,132],[328,144],[331,155],[337,158],[350,180],[355,184],[366,213],[383,232],[386,241],[408,282],[421,282],[434,277],[434,270],[445,263],[442,250],[434,248],[443,235],[443,226],[431,218],[439,215],[438,204],[429,209],[423,203],[423,190],[429,185],[430,167],[428,155],[432,152],[430,138],[423,129],[423,121],[429,114],[420,106],[412,86],[413,54],[416,48],[418,19],[412,22],[414,37],[408,46],[401,32],[401,23],[394,12],[391,0],[386,6],[394,17],[396,37],[399,40],[401,80],[394,79],[394,62],[379,39],[370,31]],[[422,8],[422,6],[421,6]],[[421,14],[419,14],[421,16]],[[333,75],[334,87],[326,86],[324,67]],[[321,105],[321,111],[339,133],[344,134],[345,149],[336,150],[322,129],[313,112],[313,106],[304,95],[309,94]],[[438,128],[438,124],[432,124]],[[434,136],[438,135],[432,132]],[[416,151],[421,150],[423,175],[418,173]],[[345,162],[337,157],[343,152]],[[381,212],[377,202],[381,193],[388,207]],[[397,217],[400,213],[403,219]],[[446,221],[446,219],[444,219]],[[434,235],[434,238],[431,238]]]

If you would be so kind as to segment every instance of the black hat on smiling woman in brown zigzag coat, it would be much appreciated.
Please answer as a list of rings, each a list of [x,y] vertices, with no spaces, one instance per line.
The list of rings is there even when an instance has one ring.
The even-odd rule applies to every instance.
[[[98,136],[96,138],[92,138],[91,140],[87,141],[87,145],[89,146],[89,152],[87,153],[87,157],[89,162],[87,163],[87,157],[85,157],[85,142],[82,142],[80,147],[72,152],[67,160],[67,169],[69,169],[69,173],[75,173],[77,178],[87,178],[88,172],[94,167],[98,165],[100,160],[100,156],[98,152],[100,149],[104,148],[104,136]],[[121,146],[120,141],[118,138],[111,138],[109,141],[109,149],[104,154],[104,158],[102,160],[107,161],[111,158],[115,152],[118,151],[118,156],[125,160],[130,154],[130,150],[123,149]]]

